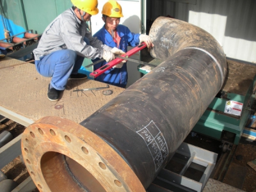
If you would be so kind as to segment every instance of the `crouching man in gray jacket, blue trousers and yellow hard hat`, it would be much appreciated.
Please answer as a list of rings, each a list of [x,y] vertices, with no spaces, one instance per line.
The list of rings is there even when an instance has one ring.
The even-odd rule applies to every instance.
[[[45,29],[33,51],[39,74],[52,77],[48,86],[49,100],[58,100],[68,79],[85,79],[78,70],[84,58],[115,59],[121,50],[112,49],[92,36],[85,21],[99,13],[97,0],[71,0],[73,6],[61,13]]]

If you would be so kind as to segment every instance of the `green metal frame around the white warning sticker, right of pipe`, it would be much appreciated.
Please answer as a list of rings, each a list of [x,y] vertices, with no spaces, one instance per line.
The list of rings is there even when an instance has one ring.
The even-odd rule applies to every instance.
[[[255,86],[256,76],[254,77],[250,88],[246,93],[245,97],[243,95],[238,95],[235,93],[228,93],[227,99],[234,100],[243,103],[243,110],[240,117],[228,116],[223,113],[225,109],[225,104],[227,99],[221,99],[215,97],[209,105],[209,109],[205,111],[200,120],[193,128],[193,131],[211,136],[221,140],[222,132],[228,131],[236,134],[234,138],[234,144],[237,145],[243,134],[244,127],[248,121],[248,117],[252,110],[252,104],[255,100],[255,95],[253,94],[253,88]]]

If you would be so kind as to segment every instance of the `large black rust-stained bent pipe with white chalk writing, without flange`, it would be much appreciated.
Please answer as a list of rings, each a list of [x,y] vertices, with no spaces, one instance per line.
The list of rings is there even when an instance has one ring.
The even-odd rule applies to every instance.
[[[220,91],[226,58],[206,31],[159,17],[150,54],[163,60],[81,125],[122,156],[147,188]]]

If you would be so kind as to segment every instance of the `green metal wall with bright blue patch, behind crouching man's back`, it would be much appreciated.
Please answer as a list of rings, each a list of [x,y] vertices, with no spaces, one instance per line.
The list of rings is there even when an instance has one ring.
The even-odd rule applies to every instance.
[[[4,29],[10,36],[30,29],[43,33],[55,17],[72,6],[70,0],[1,0],[1,4],[0,39],[4,38]]]

